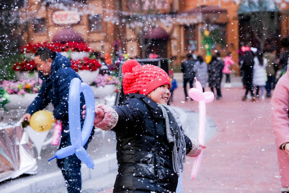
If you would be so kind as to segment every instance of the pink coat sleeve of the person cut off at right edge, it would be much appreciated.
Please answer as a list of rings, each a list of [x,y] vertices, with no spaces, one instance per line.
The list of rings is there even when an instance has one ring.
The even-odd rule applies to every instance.
[[[272,127],[276,136],[276,145],[279,148],[282,144],[289,142],[289,78],[287,74],[278,81],[272,97]]]

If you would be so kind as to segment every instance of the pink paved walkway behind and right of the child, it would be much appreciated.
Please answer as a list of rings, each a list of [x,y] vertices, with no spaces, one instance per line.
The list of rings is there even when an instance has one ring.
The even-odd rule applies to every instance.
[[[206,144],[194,181],[190,178],[192,159],[186,159],[184,193],[280,193],[270,99],[243,102],[244,92],[240,87],[222,88],[223,98],[207,104],[207,116],[217,131]],[[198,112],[197,102],[184,102],[181,87],[174,97],[173,106]]]

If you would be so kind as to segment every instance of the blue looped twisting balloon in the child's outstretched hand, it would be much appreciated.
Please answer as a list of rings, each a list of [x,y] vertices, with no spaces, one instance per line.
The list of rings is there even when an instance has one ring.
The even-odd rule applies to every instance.
[[[83,93],[85,99],[85,120],[83,129],[80,126],[80,93]],[[94,167],[94,162],[88,155],[83,146],[88,141],[94,122],[95,115],[94,94],[90,86],[82,83],[79,78],[73,78],[70,82],[68,97],[68,120],[71,146],[58,150],[54,158],[62,159],[75,154],[90,169]]]

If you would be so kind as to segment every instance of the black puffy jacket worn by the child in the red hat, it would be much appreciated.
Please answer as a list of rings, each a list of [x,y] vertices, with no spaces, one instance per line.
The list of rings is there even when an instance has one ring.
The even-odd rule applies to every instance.
[[[175,192],[178,176],[158,104],[144,95],[128,94],[114,109],[119,115],[113,128],[119,165],[114,193]],[[187,136],[185,141],[188,153],[192,144]]]

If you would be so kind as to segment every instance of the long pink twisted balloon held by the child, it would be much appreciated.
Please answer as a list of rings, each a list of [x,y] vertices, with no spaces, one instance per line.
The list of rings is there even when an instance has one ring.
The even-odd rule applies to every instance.
[[[189,90],[189,96],[199,102],[199,129],[198,129],[198,141],[201,145],[205,144],[205,125],[206,125],[206,103],[210,103],[214,100],[214,93],[203,92],[201,83],[196,80],[196,88],[191,88]],[[203,157],[203,150],[198,157],[194,158],[191,177],[194,180],[198,174],[201,160]]]

